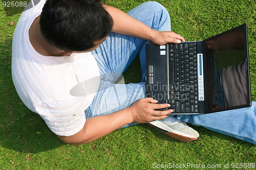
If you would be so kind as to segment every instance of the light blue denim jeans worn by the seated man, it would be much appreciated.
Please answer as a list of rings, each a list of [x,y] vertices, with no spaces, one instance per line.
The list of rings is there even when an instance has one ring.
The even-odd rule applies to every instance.
[[[127,14],[158,31],[170,31],[167,10],[156,2],[146,2]],[[134,28],[136,29],[136,28]],[[131,106],[145,97],[145,44],[147,41],[111,32],[92,52],[100,70],[100,86],[86,117],[106,115]],[[117,79],[139,54],[142,81],[135,84],[116,84]],[[256,144],[256,103],[249,108],[210,113],[206,115],[179,115],[178,119],[196,126],[233,136]],[[132,123],[127,126],[134,125]]]

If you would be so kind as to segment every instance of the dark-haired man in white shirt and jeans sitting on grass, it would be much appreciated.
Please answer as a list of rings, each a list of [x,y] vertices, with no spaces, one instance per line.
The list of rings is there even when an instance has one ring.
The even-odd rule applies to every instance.
[[[154,120],[161,120],[170,136],[197,140],[195,130],[168,116],[172,110],[155,110],[168,104],[144,98],[146,40],[159,45],[184,41],[170,32],[168,13],[158,3],[125,14],[96,0],[41,1],[22,14],[15,29],[15,88],[25,105],[69,144]],[[138,53],[142,82],[114,84]]]

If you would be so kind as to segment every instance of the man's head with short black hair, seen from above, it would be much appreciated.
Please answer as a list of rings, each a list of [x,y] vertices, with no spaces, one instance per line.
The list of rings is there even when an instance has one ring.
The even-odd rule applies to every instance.
[[[99,0],[47,0],[40,30],[48,43],[63,51],[87,51],[111,31],[113,19]]]

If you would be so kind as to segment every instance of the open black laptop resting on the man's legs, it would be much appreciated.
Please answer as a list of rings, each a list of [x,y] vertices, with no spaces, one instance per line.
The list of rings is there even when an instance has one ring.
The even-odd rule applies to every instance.
[[[146,97],[170,115],[251,106],[246,24],[203,41],[146,44]]]

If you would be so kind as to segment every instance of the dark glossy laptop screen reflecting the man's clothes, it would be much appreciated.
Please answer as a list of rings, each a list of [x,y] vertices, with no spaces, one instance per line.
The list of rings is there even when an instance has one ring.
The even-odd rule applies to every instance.
[[[206,112],[250,106],[246,25],[204,41]]]

